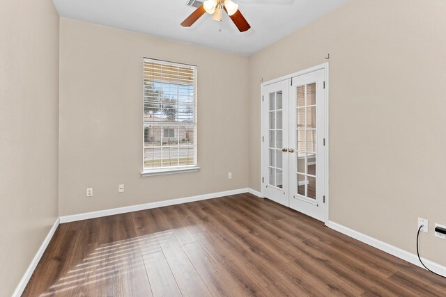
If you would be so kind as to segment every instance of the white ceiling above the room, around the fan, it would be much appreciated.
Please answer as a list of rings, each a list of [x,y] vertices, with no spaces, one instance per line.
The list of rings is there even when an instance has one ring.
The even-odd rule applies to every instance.
[[[240,33],[227,15],[207,13],[190,28],[180,23],[194,11],[187,0],[54,0],[61,17],[249,55],[348,0],[233,0],[251,24]],[[221,31],[220,31],[221,29]]]

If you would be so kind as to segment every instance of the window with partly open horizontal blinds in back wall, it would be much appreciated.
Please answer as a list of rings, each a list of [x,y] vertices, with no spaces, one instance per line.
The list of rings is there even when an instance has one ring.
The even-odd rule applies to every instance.
[[[197,67],[144,58],[144,172],[197,167]]]

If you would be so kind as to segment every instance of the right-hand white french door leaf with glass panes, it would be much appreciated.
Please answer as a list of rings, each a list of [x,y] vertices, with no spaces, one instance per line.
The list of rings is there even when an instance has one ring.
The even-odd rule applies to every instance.
[[[289,205],[318,220],[325,215],[324,70],[293,77],[289,109]]]

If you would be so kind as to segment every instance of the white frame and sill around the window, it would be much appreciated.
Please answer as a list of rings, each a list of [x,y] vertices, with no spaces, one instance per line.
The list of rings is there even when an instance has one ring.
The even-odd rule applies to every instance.
[[[153,61],[155,63],[162,63],[165,65],[174,65],[174,66],[184,66],[184,67],[194,67],[195,69],[195,82],[194,82],[194,88],[195,88],[195,102],[194,102],[194,165],[187,165],[187,166],[171,166],[171,167],[164,167],[164,168],[145,168],[144,167],[144,83],[142,84],[142,114],[143,114],[143,120],[142,120],[142,171],[141,176],[142,177],[148,177],[153,175],[171,175],[176,173],[182,173],[182,172],[196,172],[200,169],[198,166],[198,142],[197,142],[197,134],[198,134],[198,126],[197,126],[197,98],[198,98],[198,76],[197,76],[197,66],[196,65],[189,65],[189,64],[182,64],[182,63],[175,63],[170,61],[162,61],[157,60],[154,58],[143,58],[143,81],[144,81],[144,62],[145,61]],[[164,135],[164,129],[162,131]]]

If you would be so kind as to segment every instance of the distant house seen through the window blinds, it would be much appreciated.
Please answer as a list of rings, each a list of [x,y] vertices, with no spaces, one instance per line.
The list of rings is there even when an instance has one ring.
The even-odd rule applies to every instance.
[[[172,122],[169,118],[144,114],[144,143],[154,145],[192,143],[194,126],[192,120]]]

